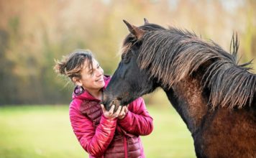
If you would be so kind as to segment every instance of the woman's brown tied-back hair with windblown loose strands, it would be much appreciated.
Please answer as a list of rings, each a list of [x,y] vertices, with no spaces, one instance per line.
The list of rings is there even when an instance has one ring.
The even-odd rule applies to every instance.
[[[55,60],[54,70],[60,75],[65,75],[70,80],[73,77],[81,78],[83,64],[87,60],[89,68],[93,68],[93,55],[90,50],[75,50],[70,55],[64,56],[61,61]]]

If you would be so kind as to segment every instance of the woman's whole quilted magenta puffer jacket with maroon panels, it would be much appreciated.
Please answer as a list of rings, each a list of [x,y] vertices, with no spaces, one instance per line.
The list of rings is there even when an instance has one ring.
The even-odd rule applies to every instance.
[[[104,80],[106,88],[110,78]],[[143,99],[130,103],[122,120],[106,119],[100,103],[86,90],[73,93],[70,122],[83,149],[90,157],[145,157],[140,135],[150,134],[153,125]]]

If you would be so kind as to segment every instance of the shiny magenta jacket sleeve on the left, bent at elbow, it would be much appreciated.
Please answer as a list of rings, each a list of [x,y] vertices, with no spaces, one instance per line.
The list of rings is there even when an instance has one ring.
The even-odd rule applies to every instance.
[[[77,105],[70,103],[69,116],[71,126],[83,149],[93,157],[101,157],[109,146],[116,129],[116,119],[108,120],[103,115],[99,126],[94,127],[93,123],[83,116]]]

